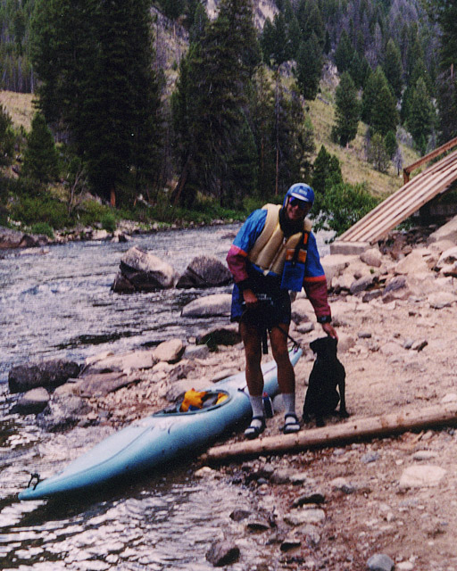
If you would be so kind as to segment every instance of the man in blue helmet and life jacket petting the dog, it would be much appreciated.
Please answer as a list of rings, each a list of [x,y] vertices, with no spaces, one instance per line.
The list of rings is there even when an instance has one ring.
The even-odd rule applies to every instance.
[[[295,414],[295,372],[287,352],[291,320],[289,290],[308,296],[317,320],[327,335],[337,338],[331,325],[327,281],[320,264],[316,239],[306,215],[314,202],[312,187],[291,186],[282,207],[266,204],[253,211],[239,230],[228,255],[228,268],[235,285],[231,320],[239,321],[245,346],[246,383],[253,409],[246,438],[257,438],[265,429],[263,411],[262,335],[264,322],[256,320],[261,300],[268,299],[268,329],[273,358],[278,366],[278,385],[285,406],[284,434],[300,430]],[[259,299],[261,298],[261,300]]]

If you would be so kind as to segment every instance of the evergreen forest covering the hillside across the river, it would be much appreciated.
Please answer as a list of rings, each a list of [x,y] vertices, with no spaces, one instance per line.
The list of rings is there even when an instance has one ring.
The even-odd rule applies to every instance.
[[[342,149],[363,129],[379,172],[457,136],[457,0],[271,0],[263,21],[255,0],[215,4],[0,0],[1,87],[35,105],[29,132],[0,106],[0,224],[40,211],[52,233],[87,193],[145,218],[242,216],[304,180],[341,232],[379,198],[316,145],[312,102],[334,106]]]

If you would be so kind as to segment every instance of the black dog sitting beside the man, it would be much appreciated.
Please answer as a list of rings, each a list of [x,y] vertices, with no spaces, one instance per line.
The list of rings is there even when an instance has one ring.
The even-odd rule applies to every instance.
[[[310,415],[314,415],[317,426],[324,426],[323,417],[335,412],[340,398],[338,414],[343,418],[349,416],[345,403],[345,368],[337,359],[337,339],[320,337],[312,341],[310,347],[316,353],[316,360],[304,399],[303,421],[309,422]]]

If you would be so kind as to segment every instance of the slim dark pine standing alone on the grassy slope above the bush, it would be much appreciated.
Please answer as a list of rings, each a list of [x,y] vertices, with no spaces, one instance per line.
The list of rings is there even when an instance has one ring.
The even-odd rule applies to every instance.
[[[360,119],[360,103],[353,79],[347,71],[341,76],[336,92],[336,120],[332,130],[339,145],[345,146],[357,135]]]

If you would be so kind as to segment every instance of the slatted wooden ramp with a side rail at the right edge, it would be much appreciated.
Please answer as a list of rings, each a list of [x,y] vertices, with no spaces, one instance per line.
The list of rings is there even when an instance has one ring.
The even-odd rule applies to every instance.
[[[378,204],[344,234],[338,236],[331,244],[330,252],[356,253],[366,250],[370,244],[384,238],[390,230],[404,219],[409,218],[437,194],[448,190],[457,180],[457,151],[449,153],[411,180],[409,180],[409,175],[421,164],[449,151],[454,146],[457,146],[457,138],[405,168],[403,170],[404,186]]]

